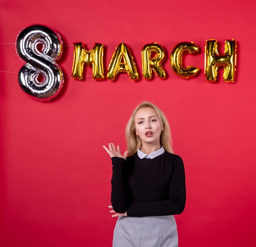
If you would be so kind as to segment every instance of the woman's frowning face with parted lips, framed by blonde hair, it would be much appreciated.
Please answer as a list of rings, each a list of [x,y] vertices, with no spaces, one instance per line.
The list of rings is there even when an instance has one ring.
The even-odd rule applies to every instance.
[[[142,145],[150,143],[158,145],[160,143],[161,126],[157,113],[151,107],[140,108],[135,114],[135,130],[139,135]]]

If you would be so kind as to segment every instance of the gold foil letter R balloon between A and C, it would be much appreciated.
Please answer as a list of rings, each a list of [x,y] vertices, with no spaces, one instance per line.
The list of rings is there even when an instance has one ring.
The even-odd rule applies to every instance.
[[[151,57],[152,53],[155,56]],[[150,43],[143,46],[142,56],[142,73],[145,79],[151,79],[152,69],[159,78],[165,78],[166,73],[162,67],[165,58],[164,47],[157,43]]]

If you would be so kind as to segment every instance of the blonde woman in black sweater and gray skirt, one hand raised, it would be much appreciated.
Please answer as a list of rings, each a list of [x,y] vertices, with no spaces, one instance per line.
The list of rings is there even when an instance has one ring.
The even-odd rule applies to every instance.
[[[173,214],[186,203],[185,172],[173,153],[164,113],[144,101],[126,126],[128,150],[103,146],[112,159],[110,213],[118,217],[113,247],[177,247]]]

